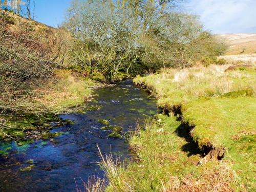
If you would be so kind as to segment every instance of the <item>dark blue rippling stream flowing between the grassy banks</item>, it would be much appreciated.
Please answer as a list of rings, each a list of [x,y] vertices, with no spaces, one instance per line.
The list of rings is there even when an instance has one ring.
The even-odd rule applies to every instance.
[[[75,122],[58,127],[52,132],[63,132],[51,142],[36,140],[31,144],[17,145],[15,142],[0,143],[0,191],[76,191],[75,181],[81,187],[81,179],[87,181],[89,175],[103,177],[97,162],[97,144],[101,152],[112,153],[121,159],[131,156],[125,139],[110,138],[109,131],[98,119],[109,120],[111,125],[123,127],[122,133],[135,127],[137,119],[157,112],[156,100],[145,91],[136,88],[131,80],[115,87],[95,91],[97,103],[89,103],[85,114],[60,116]],[[7,155],[8,152],[8,155]],[[2,153],[3,154],[3,153]],[[21,171],[31,164],[33,169]]]

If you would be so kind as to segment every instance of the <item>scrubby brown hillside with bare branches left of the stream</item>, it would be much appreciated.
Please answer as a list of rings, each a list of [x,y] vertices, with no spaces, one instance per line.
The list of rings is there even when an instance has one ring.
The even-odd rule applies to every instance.
[[[82,106],[97,83],[82,71],[60,69],[67,66],[65,31],[7,11],[0,12],[0,21],[0,137],[39,137],[31,130]]]

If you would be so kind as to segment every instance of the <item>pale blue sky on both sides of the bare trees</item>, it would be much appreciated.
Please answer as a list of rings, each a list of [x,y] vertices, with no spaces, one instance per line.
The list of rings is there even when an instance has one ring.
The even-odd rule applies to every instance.
[[[36,0],[35,19],[57,27],[72,0]],[[197,14],[212,33],[256,33],[256,0],[185,0],[184,9]]]

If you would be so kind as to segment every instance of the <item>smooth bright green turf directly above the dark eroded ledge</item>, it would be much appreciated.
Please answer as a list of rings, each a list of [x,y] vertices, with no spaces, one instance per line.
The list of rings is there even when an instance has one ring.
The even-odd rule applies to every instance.
[[[233,136],[253,133],[256,98],[200,98],[182,105],[184,121],[196,125],[191,135],[199,146],[229,147]]]

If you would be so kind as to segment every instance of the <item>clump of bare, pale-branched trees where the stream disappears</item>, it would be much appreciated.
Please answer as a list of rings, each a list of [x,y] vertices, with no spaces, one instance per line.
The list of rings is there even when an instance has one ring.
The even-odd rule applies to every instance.
[[[175,1],[73,1],[66,29],[73,35],[73,65],[106,80],[160,67],[191,66],[225,46],[194,15],[174,12]]]

